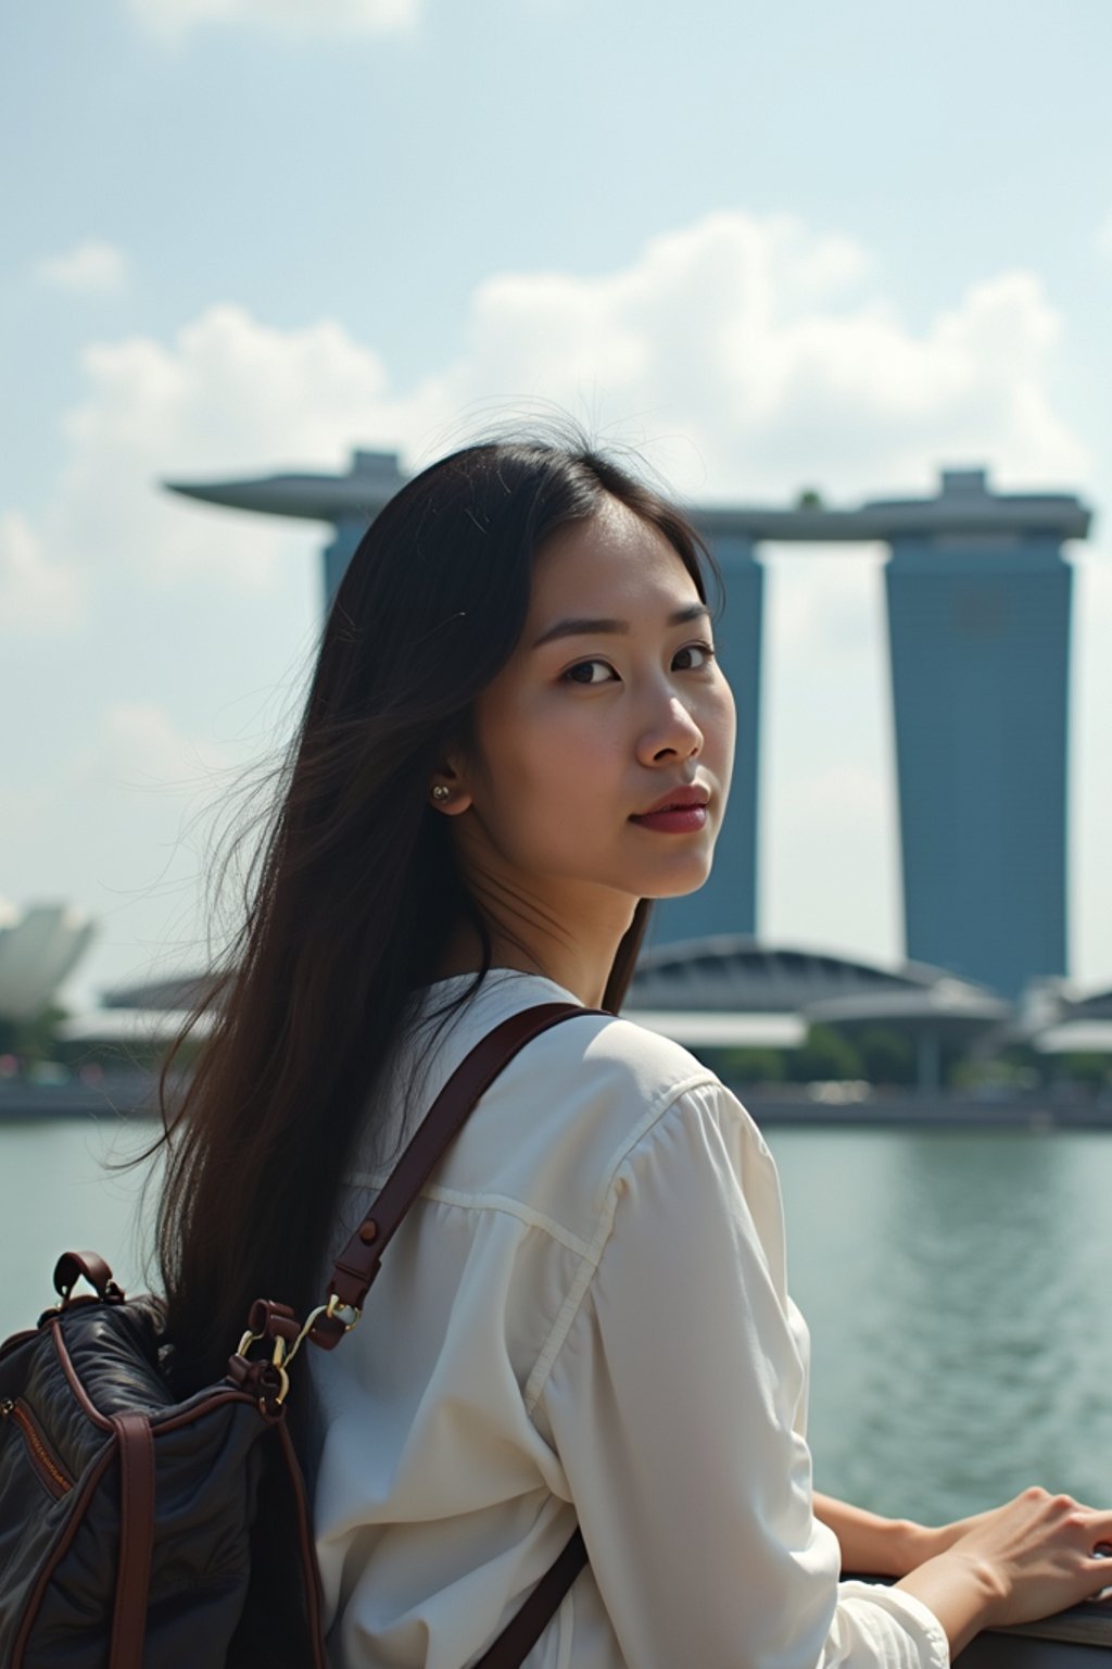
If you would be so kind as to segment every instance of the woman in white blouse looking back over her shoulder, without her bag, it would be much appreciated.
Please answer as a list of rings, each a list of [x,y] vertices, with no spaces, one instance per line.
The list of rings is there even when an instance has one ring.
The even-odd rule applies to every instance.
[[[487,444],[378,516],[332,609],[162,1220],[218,1372],[507,1015],[617,1013],[649,900],[710,871],[734,748],[700,547],[655,492]],[[342,1669],[475,1661],[582,1527],[530,1662],[942,1666],[1102,1586],[1112,1514],[1032,1490],[930,1530],[814,1497],[772,1158],[690,1055],[584,1015],[482,1098],[312,1352]],[[302,1387],[303,1389],[303,1387]],[[839,1587],[839,1566],[899,1577]]]

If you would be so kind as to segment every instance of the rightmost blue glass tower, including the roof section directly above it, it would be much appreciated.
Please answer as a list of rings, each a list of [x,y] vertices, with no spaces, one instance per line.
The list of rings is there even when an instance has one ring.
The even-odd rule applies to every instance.
[[[1019,996],[1067,971],[1062,539],[1087,517],[997,499],[979,471],[944,476],[935,506],[894,529],[885,571],[907,948]]]

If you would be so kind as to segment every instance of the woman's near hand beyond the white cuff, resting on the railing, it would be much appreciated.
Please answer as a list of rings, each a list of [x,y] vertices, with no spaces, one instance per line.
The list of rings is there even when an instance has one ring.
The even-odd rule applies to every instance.
[[[1045,1489],[925,1535],[952,1539],[899,1586],[934,1611],[954,1654],[980,1629],[1034,1622],[1112,1581],[1112,1564],[1097,1557],[1112,1545],[1112,1512]]]

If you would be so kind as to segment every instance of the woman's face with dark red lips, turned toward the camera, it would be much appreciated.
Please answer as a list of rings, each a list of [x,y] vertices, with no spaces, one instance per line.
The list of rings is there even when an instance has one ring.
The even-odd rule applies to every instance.
[[[547,541],[445,808],[462,813],[460,856],[483,896],[559,921],[705,881],[734,761],[712,643],[682,559],[619,501]]]

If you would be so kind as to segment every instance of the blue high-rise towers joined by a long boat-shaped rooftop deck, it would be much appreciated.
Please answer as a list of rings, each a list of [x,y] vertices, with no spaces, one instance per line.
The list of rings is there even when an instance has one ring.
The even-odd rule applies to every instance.
[[[338,477],[170,486],[330,524],[330,599],[403,479],[393,454],[355,452]],[[1085,537],[1089,509],[1067,494],[997,494],[970,469],[944,471],[929,499],[707,506],[694,519],[725,579],[717,646],[737,696],[737,759],[714,875],[660,906],[654,941],[757,931],[760,542],[882,541],[907,956],[1009,998],[1030,978],[1064,975],[1072,569],[1062,542]]]

